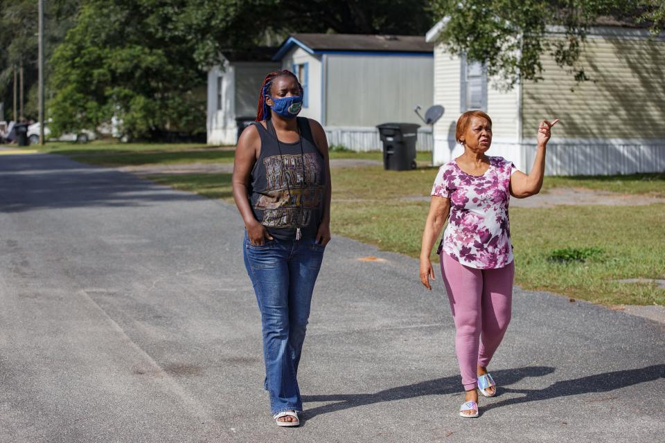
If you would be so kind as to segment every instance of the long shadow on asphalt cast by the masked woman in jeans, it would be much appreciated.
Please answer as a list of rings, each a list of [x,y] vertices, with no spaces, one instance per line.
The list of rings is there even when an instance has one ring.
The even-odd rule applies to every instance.
[[[497,380],[497,383],[511,385],[526,377],[542,377],[552,372],[554,372],[554,368],[550,368],[549,366],[528,366],[520,369],[492,371],[492,375]],[[404,400],[425,395],[447,395],[461,392],[462,381],[461,377],[457,375],[454,377],[444,377],[443,379],[420,381],[420,383],[390,388],[376,392],[375,394],[303,395],[304,402],[338,402],[305,410],[304,416],[305,419],[311,419],[320,414],[333,413],[339,410],[380,403],[382,401]],[[499,386],[500,392],[501,387]]]

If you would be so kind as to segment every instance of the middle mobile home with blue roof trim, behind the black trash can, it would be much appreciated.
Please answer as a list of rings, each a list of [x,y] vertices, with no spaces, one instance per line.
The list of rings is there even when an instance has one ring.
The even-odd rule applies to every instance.
[[[379,150],[376,125],[423,125],[414,107],[432,105],[433,46],[417,36],[293,34],[274,60],[299,76],[301,116],[318,120],[330,145]],[[432,150],[432,132],[424,126],[418,149]]]

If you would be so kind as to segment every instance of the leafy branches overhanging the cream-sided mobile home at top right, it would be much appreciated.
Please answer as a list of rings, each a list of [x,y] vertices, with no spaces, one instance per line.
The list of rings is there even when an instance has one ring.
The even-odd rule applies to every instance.
[[[447,49],[485,62],[507,87],[520,78],[538,80],[543,55],[587,80],[580,51],[589,28],[603,20],[644,24],[653,34],[665,23],[664,0],[432,0],[432,10],[447,21],[439,37]],[[565,37],[548,38],[548,26]]]

